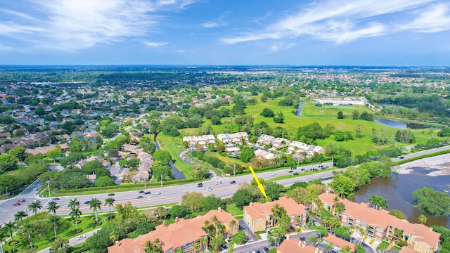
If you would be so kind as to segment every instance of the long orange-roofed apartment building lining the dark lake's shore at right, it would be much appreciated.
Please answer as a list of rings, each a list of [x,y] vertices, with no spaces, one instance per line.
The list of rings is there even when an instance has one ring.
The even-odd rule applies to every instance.
[[[327,209],[333,209],[335,197],[335,194],[328,192],[319,195],[323,207]],[[406,240],[417,252],[436,252],[439,247],[440,234],[428,226],[398,219],[387,210],[374,209],[364,202],[355,203],[343,199],[340,199],[340,202],[344,203],[345,211],[335,215],[339,217],[342,225],[359,228],[370,238],[377,241],[394,238],[394,231],[399,229],[403,231],[401,239]]]

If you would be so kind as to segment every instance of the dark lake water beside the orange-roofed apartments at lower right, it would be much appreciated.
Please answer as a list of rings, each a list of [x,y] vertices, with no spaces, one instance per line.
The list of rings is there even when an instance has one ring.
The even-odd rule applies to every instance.
[[[371,195],[380,195],[387,198],[388,209],[399,209],[408,216],[408,221],[419,223],[418,216],[423,214],[413,208],[408,202],[413,202],[412,193],[418,188],[426,186],[434,190],[450,190],[450,176],[428,176],[433,170],[423,167],[413,167],[409,174],[394,175],[390,179],[372,179],[372,183],[356,192],[355,202],[368,202]],[[450,228],[449,217],[427,216],[425,225],[445,226]]]

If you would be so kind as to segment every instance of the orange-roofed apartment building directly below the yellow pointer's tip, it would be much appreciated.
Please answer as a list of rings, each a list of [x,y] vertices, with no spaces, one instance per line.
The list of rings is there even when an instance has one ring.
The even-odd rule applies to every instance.
[[[284,207],[290,217],[290,226],[298,228],[307,223],[307,207],[297,204],[289,197],[280,197],[279,200],[264,204],[255,202],[244,207],[244,221],[253,232],[267,231],[274,226],[274,213],[271,211],[274,205]]]

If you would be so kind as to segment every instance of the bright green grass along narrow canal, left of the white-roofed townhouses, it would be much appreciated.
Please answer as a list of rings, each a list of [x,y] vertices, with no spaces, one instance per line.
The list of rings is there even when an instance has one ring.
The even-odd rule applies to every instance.
[[[191,171],[193,171],[194,167],[191,164],[184,162],[178,156],[179,151],[183,150],[183,148],[181,148],[183,138],[180,136],[166,136],[160,133],[158,134],[157,140],[158,143],[160,143],[161,149],[169,151],[170,155],[172,155],[175,166],[184,174],[184,176],[186,176],[186,179],[191,179]]]

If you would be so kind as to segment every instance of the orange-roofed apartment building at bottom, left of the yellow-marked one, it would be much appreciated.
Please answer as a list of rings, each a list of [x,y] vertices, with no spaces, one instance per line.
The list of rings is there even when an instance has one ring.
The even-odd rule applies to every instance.
[[[213,216],[216,216],[221,224],[224,224],[226,231],[224,237],[228,238],[231,234],[236,234],[239,231],[239,221],[235,219],[228,212],[217,209],[207,212],[203,216],[198,216],[193,219],[176,219],[175,223],[167,225],[162,223],[156,226],[155,231],[140,235],[135,239],[123,239],[116,242],[115,245],[108,247],[109,253],[135,253],[143,252],[143,245],[148,242],[154,242],[157,238],[161,242],[162,251],[164,253],[199,253],[205,252],[207,248],[208,235],[203,231],[205,221],[210,221]],[[231,224],[234,221],[234,226]]]

